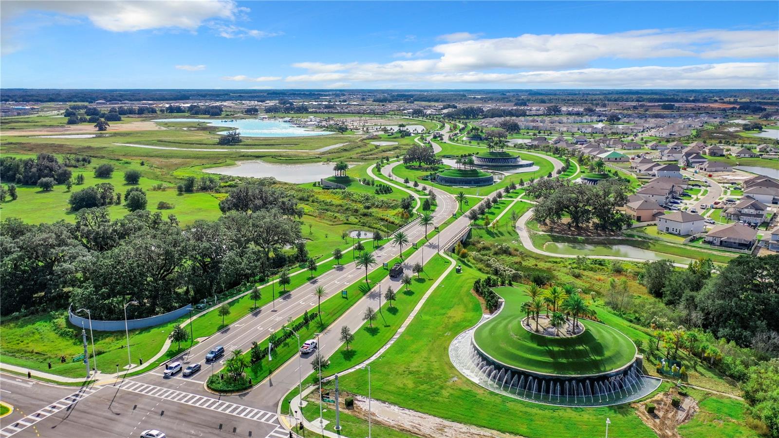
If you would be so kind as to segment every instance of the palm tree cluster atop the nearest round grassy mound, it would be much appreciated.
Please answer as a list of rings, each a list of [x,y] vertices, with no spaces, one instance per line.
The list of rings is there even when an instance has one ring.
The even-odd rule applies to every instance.
[[[530,284],[527,288],[530,300],[522,303],[522,311],[527,318],[534,316],[537,332],[538,318],[541,312],[545,311],[549,323],[555,327],[557,336],[560,335],[560,327],[569,319],[572,319],[573,334],[576,334],[576,320],[580,317],[594,316],[594,310],[584,302],[579,295],[580,292],[581,289],[577,289],[572,284],[565,284],[562,287],[552,286],[548,290],[542,289],[538,284]]]

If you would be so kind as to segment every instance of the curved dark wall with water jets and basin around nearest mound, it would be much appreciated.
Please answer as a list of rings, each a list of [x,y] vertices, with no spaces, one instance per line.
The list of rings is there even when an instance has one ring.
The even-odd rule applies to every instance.
[[[449,359],[468,379],[498,394],[557,406],[597,407],[636,401],[660,386],[660,379],[641,373],[637,359],[621,369],[586,376],[534,373],[506,366],[485,355],[474,342],[474,331],[487,320],[488,316],[483,317],[454,338]]]

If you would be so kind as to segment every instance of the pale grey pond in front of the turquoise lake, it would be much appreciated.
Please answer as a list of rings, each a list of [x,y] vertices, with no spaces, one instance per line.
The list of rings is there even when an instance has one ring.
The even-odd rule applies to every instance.
[[[220,175],[250,176],[253,178],[272,176],[279,181],[304,184],[305,182],[315,182],[321,178],[333,176],[333,164],[278,164],[252,160],[238,161],[234,166],[203,169],[203,171]]]

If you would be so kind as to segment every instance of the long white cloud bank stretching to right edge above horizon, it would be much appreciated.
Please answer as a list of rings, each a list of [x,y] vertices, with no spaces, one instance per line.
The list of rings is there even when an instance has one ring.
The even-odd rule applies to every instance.
[[[779,85],[775,30],[635,30],[619,34],[524,34],[478,39],[458,33],[445,44],[419,52],[428,59],[386,63],[298,62],[307,72],[289,83],[506,83],[544,87],[721,87],[774,88]],[[458,41],[462,40],[462,41]],[[438,54],[430,57],[428,54]],[[396,57],[407,58],[400,52]],[[699,58],[720,62],[666,67],[630,66],[636,59]],[[767,58],[766,62],[761,58]],[[601,59],[627,66],[592,68]],[[744,59],[749,62],[734,62]],[[689,59],[688,59],[689,61]],[[646,63],[646,62],[643,62]]]

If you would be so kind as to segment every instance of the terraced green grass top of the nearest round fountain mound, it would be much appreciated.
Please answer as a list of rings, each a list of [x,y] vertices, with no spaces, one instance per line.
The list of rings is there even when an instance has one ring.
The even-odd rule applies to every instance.
[[[524,288],[498,288],[506,300],[498,315],[478,327],[474,341],[487,355],[508,366],[536,373],[580,376],[622,368],[636,356],[636,346],[618,330],[581,320],[586,330],[576,337],[547,337],[520,325]],[[532,323],[532,322],[531,322]]]

